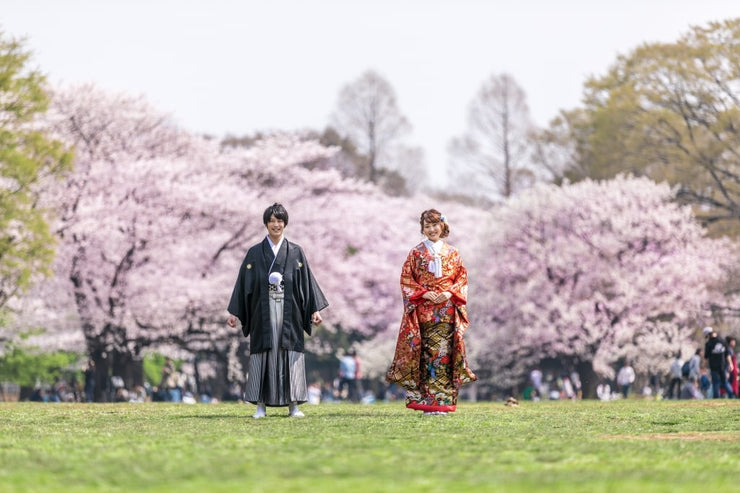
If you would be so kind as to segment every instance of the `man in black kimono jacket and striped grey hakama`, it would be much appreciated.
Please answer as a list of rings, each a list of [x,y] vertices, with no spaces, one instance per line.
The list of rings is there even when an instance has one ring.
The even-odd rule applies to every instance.
[[[229,302],[226,321],[250,338],[244,399],[257,405],[289,406],[290,416],[303,417],[298,404],[308,400],[304,332],[321,323],[328,306],[300,246],[284,237],[288,212],[278,203],[265,210],[267,237],[247,252]]]

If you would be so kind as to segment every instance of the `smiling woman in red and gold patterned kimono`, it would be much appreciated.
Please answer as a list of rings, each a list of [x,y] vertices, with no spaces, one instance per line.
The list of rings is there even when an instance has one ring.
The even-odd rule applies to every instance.
[[[401,271],[403,319],[386,380],[406,389],[406,407],[424,414],[455,411],[461,385],[477,379],[465,355],[468,274],[436,209],[421,213],[426,239],[408,254]]]

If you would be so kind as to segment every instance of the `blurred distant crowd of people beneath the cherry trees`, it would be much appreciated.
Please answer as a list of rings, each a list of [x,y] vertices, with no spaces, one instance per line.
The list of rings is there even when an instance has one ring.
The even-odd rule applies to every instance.
[[[696,348],[690,358],[683,360],[678,352],[665,375],[651,375],[641,394],[666,399],[737,398],[740,395],[736,338],[720,337],[712,327],[703,329],[705,343]],[[336,377],[328,381],[314,381],[307,387],[307,402],[372,403],[376,400],[393,401],[404,398],[404,389],[386,385],[373,392],[363,388],[362,360],[354,349],[338,358]],[[629,361],[617,371],[613,381],[602,380],[596,387],[601,400],[628,398],[633,392],[636,373]],[[367,382],[366,382],[367,383]],[[177,371],[171,358],[165,360],[157,386],[148,383],[127,389],[121,377],[113,376],[105,389],[107,402],[219,402],[208,390],[197,391],[192,376]],[[90,361],[83,369],[82,382],[58,379],[53,385],[37,385],[31,401],[39,402],[93,402],[95,394],[95,365]],[[522,397],[525,400],[577,400],[583,396],[581,378],[577,371],[547,371],[534,368]],[[232,383],[221,396],[224,401],[242,401],[244,389]]]

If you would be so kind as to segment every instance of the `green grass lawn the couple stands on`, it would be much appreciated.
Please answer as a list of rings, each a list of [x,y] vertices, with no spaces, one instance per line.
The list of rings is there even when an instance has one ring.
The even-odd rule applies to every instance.
[[[702,492],[735,486],[740,402],[0,403],[0,491]]]

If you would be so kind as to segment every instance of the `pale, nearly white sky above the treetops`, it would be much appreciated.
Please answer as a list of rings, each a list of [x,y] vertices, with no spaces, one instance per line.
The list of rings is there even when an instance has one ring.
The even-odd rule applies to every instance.
[[[483,81],[507,72],[545,125],[642,42],[740,16],[737,0],[1,0],[54,83],[143,94],[195,132],[323,129],[372,68],[432,170]],[[434,180],[438,181],[438,180]]]

